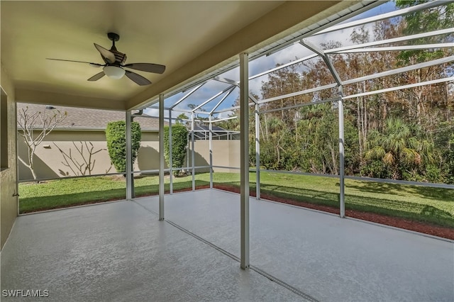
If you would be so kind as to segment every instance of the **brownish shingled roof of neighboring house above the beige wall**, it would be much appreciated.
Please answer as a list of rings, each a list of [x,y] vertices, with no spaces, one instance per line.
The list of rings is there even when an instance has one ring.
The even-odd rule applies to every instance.
[[[67,112],[67,117],[55,129],[105,129],[107,123],[113,121],[125,121],[126,113],[123,111],[109,111],[99,109],[87,109],[76,107],[55,106],[55,109],[46,109],[45,105],[39,104],[23,104],[17,103],[18,114],[22,109],[28,107],[28,113],[33,114],[38,111],[60,111]],[[133,113],[135,113],[133,111]],[[142,130],[159,130],[159,118],[151,117],[146,114],[148,118],[135,117],[134,121],[140,124]],[[165,125],[168,123],[165,122]],[[40,126],[39,121],[36,123],[37,127]]]

